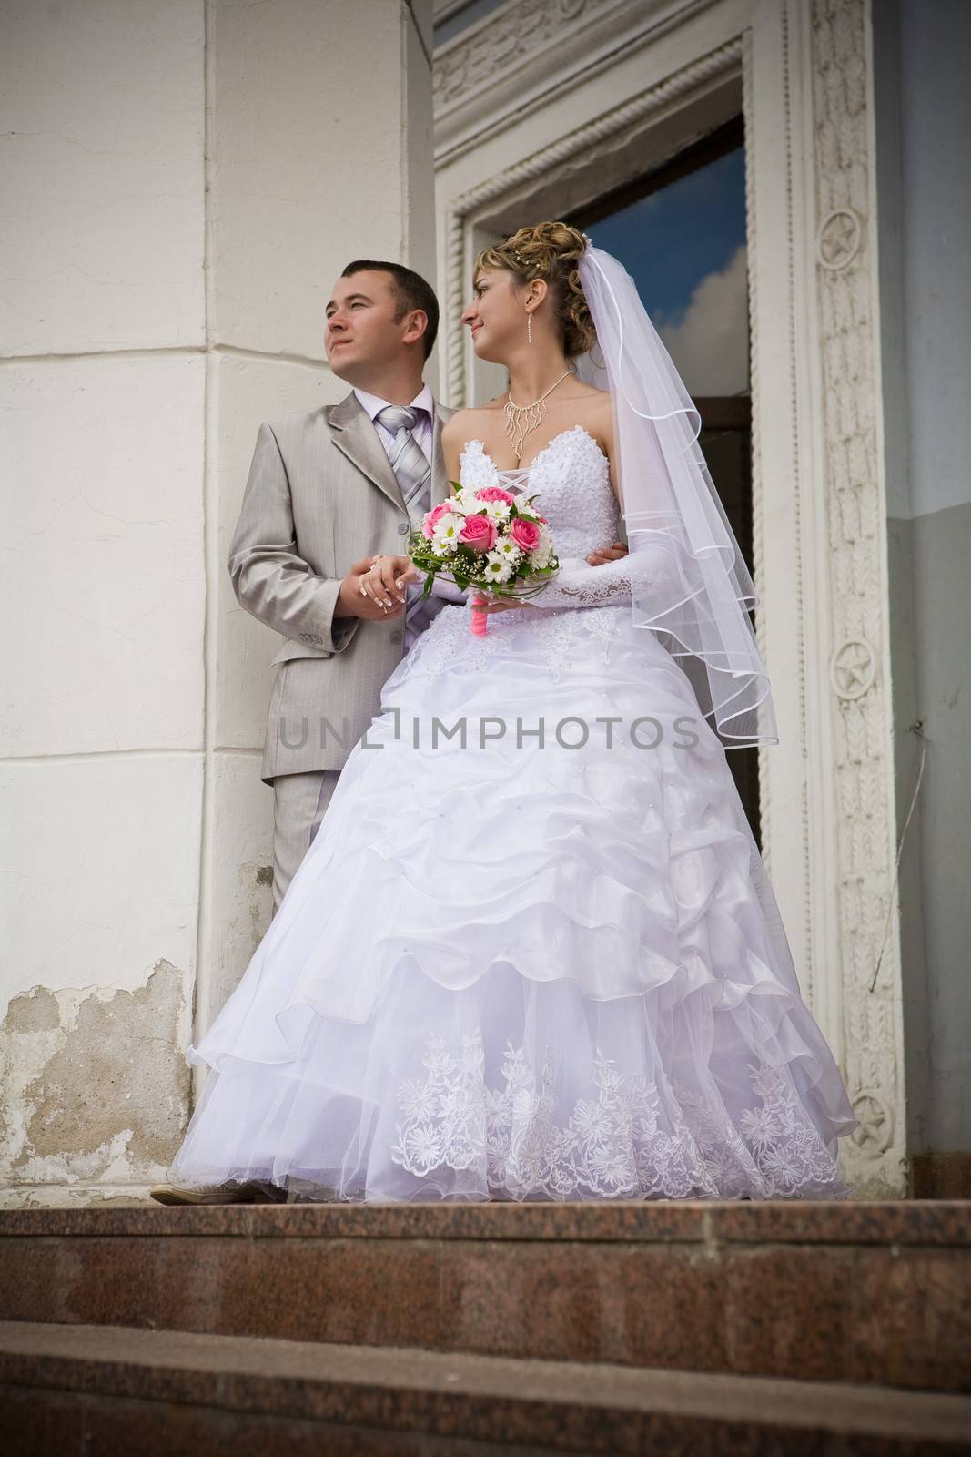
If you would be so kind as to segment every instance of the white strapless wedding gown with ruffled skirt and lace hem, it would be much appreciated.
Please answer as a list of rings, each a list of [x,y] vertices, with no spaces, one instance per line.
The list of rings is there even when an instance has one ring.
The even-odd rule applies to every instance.
[[[526,479],[562,605],[492,615],[486,637],[445,606],[389,679],[397,712],[352,750],[242,982],[189,1049],[214,1071],[176,1185],[849,1192],[834,1154],[856,1120],[725,750],[677,660],[635,628],[625,562],[584,562],[619,532],[607,460],[579,425],[528,472],[466,446],[463,485]],[[432,745],[435,718],[451,737]]]

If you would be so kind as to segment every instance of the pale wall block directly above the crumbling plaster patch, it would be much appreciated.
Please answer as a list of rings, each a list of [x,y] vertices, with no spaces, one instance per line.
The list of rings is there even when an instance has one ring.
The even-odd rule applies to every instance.
[[[95,756],[0,769],[4,965],[25,988],[143,983],[195,963],[202,763]]]

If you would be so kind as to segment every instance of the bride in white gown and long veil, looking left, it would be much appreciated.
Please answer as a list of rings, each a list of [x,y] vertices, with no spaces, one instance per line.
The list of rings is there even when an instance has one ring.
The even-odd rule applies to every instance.
[[[156,1198],[846,1196],[856,1120],[725,758],[777,739],[697,411],[563,223],[485,251],[463,322],[510,393],[447,423],[448,476],[534,497],[560,571],[485,635],[443,608],[392,673],[189,1048]],[[622,519],[630,554],[587,567]]]

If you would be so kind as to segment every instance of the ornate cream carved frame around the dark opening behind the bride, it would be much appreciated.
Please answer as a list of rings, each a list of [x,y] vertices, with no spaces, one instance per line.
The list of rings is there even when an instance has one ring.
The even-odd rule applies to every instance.
[[[757,634],[780,727],[760,753],[764,858],[860,1119],[846,1174],[900,1195],[869,47],[869,0],[520,0],[435,55],[437,211],[443,396],[463,405],[504,388],[459,322],[482,240],[523,200],[590,201],[632,152],[643,172],[741,103]]]

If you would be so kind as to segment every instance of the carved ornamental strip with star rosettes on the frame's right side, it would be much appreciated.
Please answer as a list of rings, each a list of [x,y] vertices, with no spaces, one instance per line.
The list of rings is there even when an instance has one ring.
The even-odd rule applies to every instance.
[[[847,1177],[903,1189],[898,924],[881,954],[894,871],[887,695],[885,501],[878,474],[876,259],[868,246],[873,156],[866,0],[812,0],[814,186],[824,462],[831,564],[831,724],[837,777],[839,938],[850,1099],[860,1129]]]

